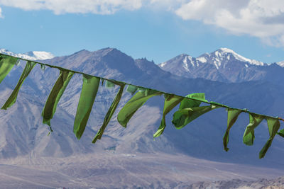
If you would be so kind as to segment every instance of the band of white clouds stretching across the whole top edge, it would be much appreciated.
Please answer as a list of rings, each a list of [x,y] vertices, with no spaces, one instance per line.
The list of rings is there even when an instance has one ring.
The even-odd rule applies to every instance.
[[[0,0],[0,6],[62,13],[112,14],[119,10],[172,11],[234,35],[251,35],[284,46],[284,0]],[[0,8],[1,16],[1,8]]]

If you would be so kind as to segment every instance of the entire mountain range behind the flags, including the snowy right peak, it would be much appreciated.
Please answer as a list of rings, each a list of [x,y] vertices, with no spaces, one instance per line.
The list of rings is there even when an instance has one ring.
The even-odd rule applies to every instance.
[[[224,48],[197,58],[179,55],[158,65],[147,59],[133,59],[114,48],[95,52],[82,50],[50,58],[38,61],[182,96],[204,92],[209,101],[248,108],[256,113],[284,115],[284,89],[280,82],[284,68],[280,67],[281,64],[246,59]],[[1,83],[1,104],[9,97],[24,65],[22,62],[14,67]],[[4,181],[7,176],[11,178],[15,174],[15,167],[25,173],[29,168],[30,171],[40,170],[36,173],[43,178],[59,173],[66,185],[75,188],[88,188],[94,184],[98,188],[107,187],[103,175],[109,176],[109,186],[119,183],[118,188],[124,185],[146,188],[153,185],[156,188],[157,185],[178,186],[194,181],[283,175],[281,170],[284,165],[280,163],[284,156],[283,138],[276,136],[266,157],[258,159],[258,151],[269,136],[266,121],[256,129],[252,147],[242,144],[242,135],[249,123],[246,113],[239,116],[231,129],[228,152],[222,147],[226,131],[226,110],[222,108],[202,115],[182,130],[175,130],[171,125],[172,114],[169,113],[164,134],[153,141],[153,133],[160,125],[163,112],[161,96],[151,98],[143,105],[124,129],[116,121],[117,113],[131,98],[131,94],[124,92],[104,136],[92,144],[92,138],[102,125],[118,88],[99,88],[86,131],[78,141],[72,133],[72,125],[82,88],[80,74],[75,74],[67,86],[51,120],[54,132],[48,136],[48,127],[41,123],[40,113],[58,74],[57,69],[47,67],[43,70],[36,66],[24,82],[16,103],[9,110],[0,111],[1,122],[4,122],[0,128],[0,163],[6,170],[6,175],[2,177]],[[202,166],[205,164],[207,166]],[[157,170],[163,174],[159,176]],[[204,175],[205,172],[208,174]],[[186,176],[179,177],[182,174]],[[30,179],[33,177],[32,174],[29,176]],[[124,180],[122,176],[129,177],[129,180]],[[20,172],[17,178],[25,180]],[[119,181],[116,181],[118,178]],[[13,179],[11,181],[16,181],[16,178]],[[97,183],[93,179],[97,179]],[[83,183],[86,186],[83,187]],[[42,181],[35,179],[27,183],[30,186],[38,184],[43,185]],[[44,185],[56,186],[46,181]]]

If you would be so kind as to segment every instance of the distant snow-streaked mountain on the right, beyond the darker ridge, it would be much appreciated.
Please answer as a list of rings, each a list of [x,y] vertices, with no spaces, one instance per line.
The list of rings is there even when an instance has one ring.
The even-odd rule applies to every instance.
[[[159,66],[178,76],[204,78],[226,83],[264,80],[282,85],[284,79],[283,62],[264,64],[242,57],[226,48],[205,53],[197,58],[185,54],[178,55]]]

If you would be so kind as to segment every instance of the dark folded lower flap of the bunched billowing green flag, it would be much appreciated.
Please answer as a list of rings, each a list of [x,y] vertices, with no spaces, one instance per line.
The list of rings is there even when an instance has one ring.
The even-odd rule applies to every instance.
[[[175,125],[176,129],[180,130],[188,123],[200,117],[200,115],[203,115],[204,113],[207,113],[210,110],[214,110],[215,108],[219,107],[217,107],[216,105],[205,105],[200,107],[183,108],[181,110],[178,110],[173,114],[173,125]]]

